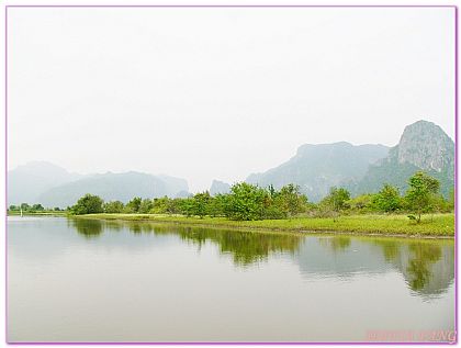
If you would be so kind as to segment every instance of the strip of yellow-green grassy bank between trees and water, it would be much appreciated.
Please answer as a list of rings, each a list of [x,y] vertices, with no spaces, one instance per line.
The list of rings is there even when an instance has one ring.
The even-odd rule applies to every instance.
[[[454,214],[425,215],[419,224],[405,215],[352,215],[337,221],[321,217],[296,217],[291,220],[229,221],[225,217],[185,217],[160,214],[89,214],[81,218],[121,221],[148,221],[210,227],[266,229],[283,232],[338,232],[353,234],[382,234],[401,236],[454,236]]]

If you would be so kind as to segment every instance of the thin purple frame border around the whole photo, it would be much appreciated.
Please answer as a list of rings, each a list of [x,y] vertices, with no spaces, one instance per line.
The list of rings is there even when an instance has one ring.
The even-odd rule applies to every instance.
[[[36,343],[21,341],[11,343],[8,340],[8,9],[9,8],[451,8],[454,10],[454,341],[305,341],[305,343],[273,343],[273,341],[54,341]],[[7,345],[458,345],[458,7],[454,4],[10,4],[4,5],[4,257],[5,257],[5,278],[4,278],[4,337]]]

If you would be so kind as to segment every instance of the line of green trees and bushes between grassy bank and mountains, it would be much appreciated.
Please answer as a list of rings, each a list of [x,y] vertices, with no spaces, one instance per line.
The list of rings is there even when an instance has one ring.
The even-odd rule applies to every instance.
[[[86,194],[67,209],[70,214],[92,213],[125,214],[180,214],[185,216],[222,216],[229,220],[276,220],[293,216],[321,216],[337,218],[342,214],[407,213],[408,217],[420,222],[421,214],[451,212],[454,207],[454,191],[446,200],[440,193],[440,183],[424,171],[408,179],[408,189],[401,194],[396,187],[384,184],[378,193],[351,198],[345,188],[331,188],[318,203],[310,202],[301,193],[299,186],[286,184],[277,190],[273,186],[261,188],[247,182],[235,183],[229,193],[212,197],[209,191],[189,198],[168,197],[156,199],[133,198],[124,204],[121,201],[104,202],[100,197]],[[25,203],[24,203],[25,204]],[[21,205],[22,206],[22,205]],[[29,206],[29,205],[27,205]],[[27,211],[23,206],[23,211]],[[35,204],[32,209],[43,210]],[[10,206],[10,210],[18,209]],[[55,209],[56,210],[56,209]]]

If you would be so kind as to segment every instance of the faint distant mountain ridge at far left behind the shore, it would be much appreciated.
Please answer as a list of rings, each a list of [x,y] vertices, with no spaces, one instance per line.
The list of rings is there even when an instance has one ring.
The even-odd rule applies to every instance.
[[[86,193],[105,201],[127,202],[134,197],[184,197],[188,191],[184,179],[135,171],[82,176],[48,162],[30,162],[8,172],[9,205],[41,203],[46,207],[66,207]]]

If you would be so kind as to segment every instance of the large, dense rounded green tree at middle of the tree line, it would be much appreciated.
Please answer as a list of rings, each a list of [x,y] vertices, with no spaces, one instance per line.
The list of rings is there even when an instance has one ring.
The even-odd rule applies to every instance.
[[[226,216],[232,220],[261,220],[266,197],[267,192],[258,186],[236,183],[227,197]]]

